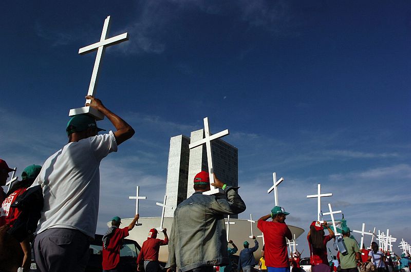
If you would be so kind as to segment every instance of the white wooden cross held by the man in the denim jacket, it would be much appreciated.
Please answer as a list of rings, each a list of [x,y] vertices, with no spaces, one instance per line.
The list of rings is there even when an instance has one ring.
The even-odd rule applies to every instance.
[[[208,117],[203,119],[204,121],[204,139],[201,139],[197,142],[191,143],[189,145],[189,148],[192,149],[197,146],[202,146],[203,144],[206,144],[206,150],[207,150],[207,163],[209,166],[209,175],[210,175],[210,183],[214,183],[214,176],[213,176],[213,157],[211,153],[211,141],[221,138],[225,135],[230,134],[229,130],[223,130],[220,131],[216,134],[211,134],[210,128],[209,128],[209,119]],[[210,191],[203,192],[203,195],[218,195],[218,194],[224,194],[224,191],[220,188],[216,188],[214,186],[211,186]]]

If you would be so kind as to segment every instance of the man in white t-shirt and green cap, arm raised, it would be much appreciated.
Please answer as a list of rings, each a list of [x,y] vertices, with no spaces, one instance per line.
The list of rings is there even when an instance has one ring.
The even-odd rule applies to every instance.
[[[68,144],[50,156],[32,186],[43,188],[44,208],[34,240],[34,257],[40,271],[84,271],[89,241],[97,227],[100,195],[100,161],[130,139],[134,129],[87,95],[86,106],[102,112],[116,128],[102,129],[89,115],[73,116],[67,123]]]

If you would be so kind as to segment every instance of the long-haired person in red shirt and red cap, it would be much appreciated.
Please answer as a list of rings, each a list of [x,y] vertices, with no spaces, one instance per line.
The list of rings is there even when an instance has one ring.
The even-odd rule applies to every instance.
[[[324,228],[328,229],[329,235],[324,235]],[[334,238],[334,232],[327,222],[321,224],[313,221],[307,235],[308,247],[310,249],[311,272],[329,272],[330,266],[327,258],[327,242]]]

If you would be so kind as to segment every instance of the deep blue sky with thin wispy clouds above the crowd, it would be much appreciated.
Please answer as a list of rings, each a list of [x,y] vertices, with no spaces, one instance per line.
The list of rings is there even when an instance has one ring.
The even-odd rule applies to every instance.
[[[239,149],[239,218],[269,212],[275,171],[289,224],[308,229],[316,202],[305,196],[321,183],[333,193],[324,210],[330,202],[351,228],[389,228],[411,243],[409,2],[1,6],[0,150],[19,177],[67,142],[68,111],[84,104],[95,60],[78,49],[99,40],[107,15],[109,36],[129,33],[106,50],[97,92],[136,130],[101,164],[99,232],[114,214],[133,216],[136,185],[149,199],[141,216],[160,216],[170,137],[208,116]]]

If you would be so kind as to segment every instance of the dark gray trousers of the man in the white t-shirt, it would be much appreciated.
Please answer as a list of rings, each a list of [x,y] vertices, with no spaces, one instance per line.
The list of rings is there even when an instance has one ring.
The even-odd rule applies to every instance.
[[[82,272],[89,257],[90,240],[71,228],[49,228],[34,239],[34,258],[41,272]]]

